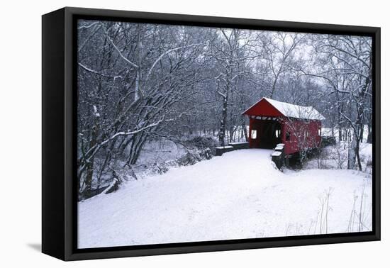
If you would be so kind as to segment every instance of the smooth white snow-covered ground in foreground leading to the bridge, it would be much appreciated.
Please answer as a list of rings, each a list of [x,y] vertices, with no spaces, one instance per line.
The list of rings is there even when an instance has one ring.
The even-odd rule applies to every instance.
[[[79,247],[318,233],[319,198],[330,187],[328,233],[347,231],[354,191],[360,195],[363,185],[364,223],[371,228],[371,179],[365,174],[325,169],[282,173],[272,166],[270,153],[228,152],[83,201]]]

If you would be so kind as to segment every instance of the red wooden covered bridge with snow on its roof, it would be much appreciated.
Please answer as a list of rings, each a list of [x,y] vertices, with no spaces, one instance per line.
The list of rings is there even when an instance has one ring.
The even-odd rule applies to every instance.
[[[311,106],[298,106],[262,98],[243,114],[249,116],[249,146],[273,149],[284,143],[292,155],[321,144],[321,113]]]

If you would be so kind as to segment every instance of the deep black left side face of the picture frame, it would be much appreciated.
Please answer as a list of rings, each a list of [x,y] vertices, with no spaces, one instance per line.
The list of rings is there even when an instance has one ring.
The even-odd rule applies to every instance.
[[[42,16],[42,252],[64,259],[64,14]]]

